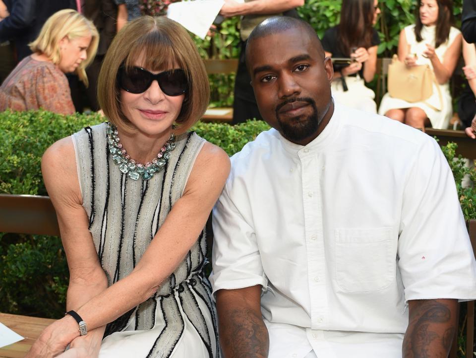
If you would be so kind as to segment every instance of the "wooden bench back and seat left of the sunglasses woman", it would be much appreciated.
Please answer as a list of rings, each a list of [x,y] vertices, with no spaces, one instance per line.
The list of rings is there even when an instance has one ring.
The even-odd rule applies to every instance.
[[[0,232],[60,235],[49,197],[0,194]],[[0,313],[0,322],[24,340],[0,348],[0,358],[23,358],[43,329],[54,319]]]

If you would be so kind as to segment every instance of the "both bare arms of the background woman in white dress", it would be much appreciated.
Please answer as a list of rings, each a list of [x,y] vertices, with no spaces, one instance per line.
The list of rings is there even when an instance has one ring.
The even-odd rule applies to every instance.
[[[427,49],[423,54],[431,61],[433,72],[435,73],[436,80],[439,84],[448,82],[455,71],[461,52],[461,41],[462,36],[459,34],[446,50],[445,55],[443,56],[443,62],[440,62],[438,56],[436,56],[435,49],[428,44],[426,45]],[[405,30],[402,30],[400,31],[400,38],[398,41],[398,58],[400,61],[405,61],[408,67],[417,66],[415,56],[409,53],[409,47]]]

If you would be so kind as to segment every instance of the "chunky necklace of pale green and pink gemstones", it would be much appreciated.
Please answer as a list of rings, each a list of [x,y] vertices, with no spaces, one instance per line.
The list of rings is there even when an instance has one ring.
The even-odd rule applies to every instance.
[[[119,141],[118,129],[111,123],[108,123],[107,137],[109,151],[113,155],[113,161],[116,165],[119,165],[119,170],[127,174],[132,180],[138,180],[140,177],[144,180],[149,180],[155,173],[164,169],[165,164],[170,158],[170,152],[175,149],[176,145],[175,135],[172,134],[169,140],[160,149],[157,156],[152,159],[152,161],[142,164],[130,158]]]

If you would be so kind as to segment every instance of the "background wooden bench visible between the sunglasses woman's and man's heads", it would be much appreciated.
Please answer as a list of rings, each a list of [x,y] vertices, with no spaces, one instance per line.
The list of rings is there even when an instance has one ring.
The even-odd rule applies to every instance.
[[[206,59],[203,60],[203,63],[208,74],[230,74],[237,72],[238,68],[238,59]],[[201,120],[203,122],[231,123],[233,120],[233,108],[208,108]]]

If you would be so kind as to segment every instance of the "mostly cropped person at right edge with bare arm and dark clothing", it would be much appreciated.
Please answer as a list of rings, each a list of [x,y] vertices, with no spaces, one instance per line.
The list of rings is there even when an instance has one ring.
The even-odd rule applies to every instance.
[[[458,100],[458,115],[468,137],[476,139],[476,48],[463,40],[463,58],[465,59],[465,72],[468,85],[461,93]]]

